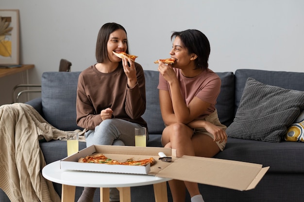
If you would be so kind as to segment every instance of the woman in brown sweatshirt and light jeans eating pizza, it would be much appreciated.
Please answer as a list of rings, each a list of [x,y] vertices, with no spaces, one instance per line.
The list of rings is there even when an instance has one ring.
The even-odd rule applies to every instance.
[[[86,146],[135,145],[135,127],[147,127],[141,117],[146,110],[143,68],[112,51],[129,53],[126,30],[117,23],[104,24],[97,37],[97,63],[78,78],[77,124],[86,129]],[[147,137],[148,140],[148,137]],[[78,202],[93,202],[94,187],[85,187]],[[119,201],[116,188],[110,201]]]

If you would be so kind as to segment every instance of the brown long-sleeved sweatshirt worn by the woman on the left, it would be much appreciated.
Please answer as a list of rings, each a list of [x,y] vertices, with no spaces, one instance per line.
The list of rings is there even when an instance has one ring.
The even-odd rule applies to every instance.
[[[77,86],[76,110],[78,126],[94,129],[101,123],[101,110],[111,108],[112,118],[127,120],[147,127],[141,118],[146,110],[144,71],[135,62],[137,84],[127,87],[122,63],[111,73],[99,72],[92,65],[80,73]]]

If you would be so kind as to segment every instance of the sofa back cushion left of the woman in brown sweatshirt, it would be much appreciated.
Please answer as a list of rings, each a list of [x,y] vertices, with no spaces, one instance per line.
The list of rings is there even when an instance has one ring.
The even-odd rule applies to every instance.
[[[76,92],[80,72],[44,72],[42,110],[46,121],[60,130],[81,129],[76,124]]]

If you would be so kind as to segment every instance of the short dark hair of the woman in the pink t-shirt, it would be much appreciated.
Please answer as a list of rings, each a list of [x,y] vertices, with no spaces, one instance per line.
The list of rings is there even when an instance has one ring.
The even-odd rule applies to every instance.
[[[189,54],[194,53],[197,55],[195,59],[197,68],[207,69],[210,44],[205,34],[198,30],[174,31],[171,35],[171,40],[177,36],[181,39]]]

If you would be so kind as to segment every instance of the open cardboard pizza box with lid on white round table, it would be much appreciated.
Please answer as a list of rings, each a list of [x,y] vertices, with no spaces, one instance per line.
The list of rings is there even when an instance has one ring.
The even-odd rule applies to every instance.
[[[171,162],[159,160],[159,152],[172,157]],[[78,159],[93,153],[101,153],[108,158],[126,161],[153,157],[156,164],[148,166],[105,165],[97,163],[79,163]],[[204,158],[197,156],[176,157],[175,150],[162,147],[133,147],[92,145],[60,161],[61,169],[77,171],[100,171],[148,174],[200,184],[220,186],[236,190],[255,188],[270,167],[260,164]]]

